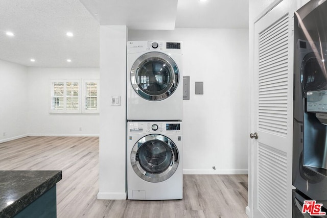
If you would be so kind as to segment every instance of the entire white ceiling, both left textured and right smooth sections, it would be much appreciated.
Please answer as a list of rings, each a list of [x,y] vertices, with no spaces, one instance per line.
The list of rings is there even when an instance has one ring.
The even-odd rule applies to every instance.
[[[0,59],[25,66],[99,67],[99,22],[140,30],[248,28],[248,0],[1,0]],[[67,37],[68,31],[74,37]]]

